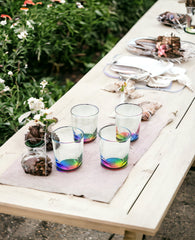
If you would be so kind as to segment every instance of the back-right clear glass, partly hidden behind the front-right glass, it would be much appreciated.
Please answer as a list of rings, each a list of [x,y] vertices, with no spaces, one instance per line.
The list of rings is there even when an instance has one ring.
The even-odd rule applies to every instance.
[[[132,103],[121,103],[115,108],[117,127],[126,127],[131,131],[131,142],[139,137],[142,108]]]

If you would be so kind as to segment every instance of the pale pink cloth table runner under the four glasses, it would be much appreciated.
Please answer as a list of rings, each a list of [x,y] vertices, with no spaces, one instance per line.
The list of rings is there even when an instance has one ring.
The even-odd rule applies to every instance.
[[[82,196],[109,203],[125,182],[133,166],[152,145],[162,128],[170,122],[170,114],[160,115],[156,114],[149,121],[141,123],[139,139],[131,143],[128,165],[123,169],[109,170],[101,166],[97,138],[94,142],[84,145],[83,163],[75,171],[57,171],[53,152],[50,152],[48,155],[52,159],[53,169],[49,176],[32,176],[24,173],[21,159],[17,159],[1,174],[0,183]]]

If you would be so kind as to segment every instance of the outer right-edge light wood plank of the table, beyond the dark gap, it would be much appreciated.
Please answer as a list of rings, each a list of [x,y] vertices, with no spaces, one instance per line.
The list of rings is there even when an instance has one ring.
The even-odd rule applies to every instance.
[[[189,121],[193,124],[189,125]],[[190,137],[189,137],[190,136]],[[194,159],[195,103],[170,141],[162,162],[129,213],[129,223],[155,233],[166,215]],[[185,148],[183,143],[185,139]],[[143,215],[144,212],[144,215]],[[152,217],[151,217],[152,216]]]

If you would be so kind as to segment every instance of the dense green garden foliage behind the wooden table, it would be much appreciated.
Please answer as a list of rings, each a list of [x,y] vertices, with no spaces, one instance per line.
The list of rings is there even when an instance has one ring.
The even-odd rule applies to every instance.
[[[18,117],[28,98],[39,97],[43,79],[50,107],[74,85],[67,76],[85,74],[155,1],[85,0],[78,8],[73,0],[34,0],[26,12],[24,0],[0,0],[0,14],[11,17],[0,18],[0,79],[10,88],[0,85],[0,145],[21,127]]]

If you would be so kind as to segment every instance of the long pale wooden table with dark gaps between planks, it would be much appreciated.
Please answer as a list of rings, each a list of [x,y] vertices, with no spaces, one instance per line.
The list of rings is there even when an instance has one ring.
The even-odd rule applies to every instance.
[[[101,112],[118,103],[116,94],[102,91],[111,81],[103,68],[117,54],[129,54],[126,44],[132,38],[178,32],[161,25],[156,17],[164,11],[185,13],[184,4],[176,0],[159,0],[91,71],[52,106],[58,125],[70,123],[70,108],[78,103],[93,103]],[[194,35],[179,33],[182,40],[195,43]],[[183,63],[195,89],[195,60]],[[141,239],[155,235],[194,159],[195,94],[185,88],[179,93],[145,91],[145,97],[160,100],[167,111],[175,113],[174,121],[130,172],[122,188],[109,203],[70,195],[43,192],[22,187],[0,185],[0,212],[54,221],[78,227],[117,234],[124,239]],[[100,115],[102,119],[103,114]],[[12,136],[0,149],[0,174],[23,151],[21,139],[26,127]]]

